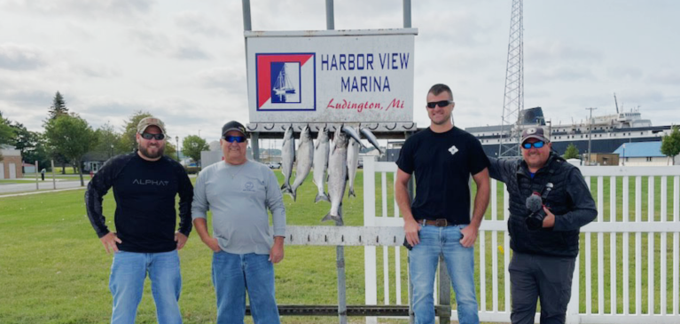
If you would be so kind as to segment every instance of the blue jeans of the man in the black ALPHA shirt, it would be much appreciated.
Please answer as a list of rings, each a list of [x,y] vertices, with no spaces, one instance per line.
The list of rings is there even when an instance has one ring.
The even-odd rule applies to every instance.
[[[182,291],[182,275],[179,272],[179,255],[174,250],[162,253],[115,253],[109,279],[113,295],[112,324],[135,323],[147,273],[151,280],[158,322],[182,323],[177,304]]]

